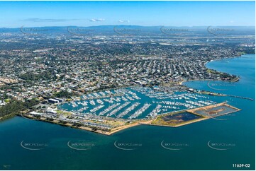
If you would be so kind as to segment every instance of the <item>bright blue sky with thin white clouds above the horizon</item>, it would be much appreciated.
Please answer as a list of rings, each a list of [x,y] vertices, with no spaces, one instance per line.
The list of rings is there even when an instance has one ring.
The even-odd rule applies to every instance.
[[[0,28],[255,26],[255,1],[0,1]]]

